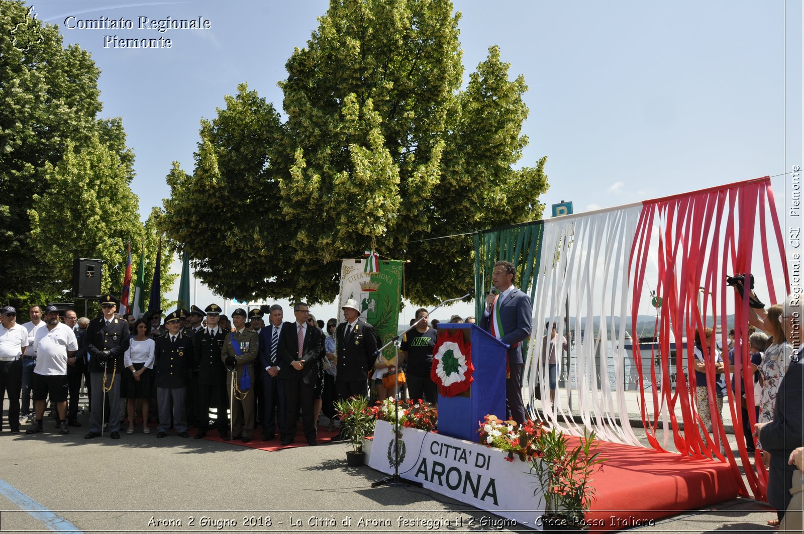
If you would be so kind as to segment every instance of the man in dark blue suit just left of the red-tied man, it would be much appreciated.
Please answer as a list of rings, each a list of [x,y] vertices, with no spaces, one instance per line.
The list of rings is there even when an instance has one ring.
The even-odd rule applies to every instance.
[[[279,378],[282,339],[282,306],[274,304],[269,310],[269,326],[260,330],[260,381],[262,382],[262,440],[271,441],[285,433],[285,380]]]

